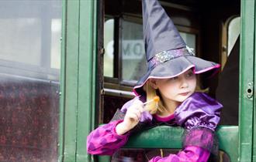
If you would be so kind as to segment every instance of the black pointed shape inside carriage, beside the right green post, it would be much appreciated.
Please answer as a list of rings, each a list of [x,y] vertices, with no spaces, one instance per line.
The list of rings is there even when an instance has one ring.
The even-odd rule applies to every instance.
[[[238,125],[240,36],[234,44],[216,89],[216,99],[223,104],[222,125]]]

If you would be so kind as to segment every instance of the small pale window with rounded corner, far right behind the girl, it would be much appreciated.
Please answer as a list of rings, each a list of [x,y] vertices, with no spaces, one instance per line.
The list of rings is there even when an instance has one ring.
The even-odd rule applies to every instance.
[[[228,25],[228,39],[227,39],[227,56],[230,55],[231,49],[240,34],[240,17],[234,18]]]

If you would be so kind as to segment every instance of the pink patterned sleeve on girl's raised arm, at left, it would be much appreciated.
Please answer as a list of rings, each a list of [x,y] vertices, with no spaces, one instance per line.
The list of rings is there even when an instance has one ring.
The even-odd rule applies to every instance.
[[[123,120],[110,122],[93,130],[87,137],[87,151],[89,154],[112,155],[128,140],[129,134],[122,136],[116,133],[116,125]]]

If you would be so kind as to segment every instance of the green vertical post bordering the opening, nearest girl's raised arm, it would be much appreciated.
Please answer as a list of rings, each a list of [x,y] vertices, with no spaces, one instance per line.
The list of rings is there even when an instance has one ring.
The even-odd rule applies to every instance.
[[[86,137],[95,122],[97,2],[80,1],[77,161],[93,161],[86,151]]]

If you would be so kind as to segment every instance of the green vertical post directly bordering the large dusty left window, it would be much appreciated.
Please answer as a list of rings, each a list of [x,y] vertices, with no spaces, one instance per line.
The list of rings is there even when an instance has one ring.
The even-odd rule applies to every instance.
[[[79,70],[79,1],[64,0],[61,62],[61,112],[59,161],[76,161],[78,70]]]

